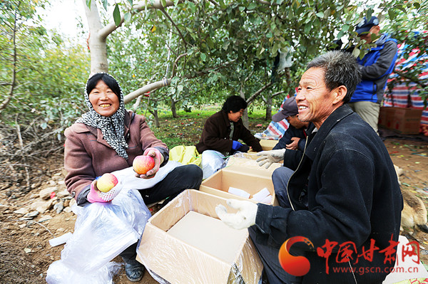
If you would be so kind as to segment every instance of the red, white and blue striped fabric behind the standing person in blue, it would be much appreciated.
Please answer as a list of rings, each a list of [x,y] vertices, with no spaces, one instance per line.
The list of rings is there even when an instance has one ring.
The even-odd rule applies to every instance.
[[[424,68],[419,76],[419,79],[428,80],[428,56],[419,56],[419,50],[415,48],[412,53],[409,54],[409,58],[405,59],[402,54],[405,44],[398,45],[398,59],[395,65],[395,70],[406,70],[407,68],[413,68],[417,64],[423,64]],[[396,79],[399,75],[392,73],[389,76],[389,81]],[[409,82],[405,78],[399,79],[399,84],[395,85],[392,90],[386,90],[384,94],[384,106],[385,107],[412,107],[414,109],[423,110],[424,103],[418,93],[418,86],[416,83]],[[425,83],[427,84],[427,83]],[[422,112],[421,124],[428,124],[428,109]]]

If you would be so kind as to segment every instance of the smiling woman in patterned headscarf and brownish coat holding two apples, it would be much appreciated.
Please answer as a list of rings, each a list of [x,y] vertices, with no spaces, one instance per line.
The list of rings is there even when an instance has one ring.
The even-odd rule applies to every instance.
[[[155,137],[146,118],[126,111],[121,87],[111,75],[91,76],[86,83],[85,101],[89,111],[65,131],[65,182],[78,206],[104,202],[98,195],[96,177],[131,167],[133,159],[144,154],[153,157],[155,167],[139,177],[150,179],[169,157],[168,147]],[[199,189],[202,176],[198,166],[175,167],[161,182],[140,193],[146,204],[172,199],[184,189]],[[131,281],[141,280],[144,273],[143,265],[136,261],[136,247],[134,243],[120,254]]]

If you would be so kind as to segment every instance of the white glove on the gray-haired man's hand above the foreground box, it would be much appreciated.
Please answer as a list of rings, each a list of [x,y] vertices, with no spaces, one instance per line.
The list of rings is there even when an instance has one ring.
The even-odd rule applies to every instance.
[[[237,230],[248,228],[255,224],[255,216],[257,215],[257,204],[251,201],[228,199],[228,206],[238,209],[236,213],[228,213],[226,207],[222,204],[215,206],[215,213],[226,225]]]

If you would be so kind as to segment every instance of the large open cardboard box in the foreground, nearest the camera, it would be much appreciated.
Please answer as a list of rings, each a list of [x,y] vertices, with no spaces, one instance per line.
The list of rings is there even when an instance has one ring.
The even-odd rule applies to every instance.
[[[263,264],[248,230],[220,221],[218,204],[228,208],[219,196],[183,191],[149,219],[137,260],[169,283],[258,283]]]

